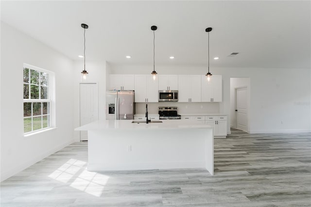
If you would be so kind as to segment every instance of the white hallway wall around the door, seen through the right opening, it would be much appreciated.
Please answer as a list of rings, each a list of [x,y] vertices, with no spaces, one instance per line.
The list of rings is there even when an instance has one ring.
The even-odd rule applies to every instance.
[[[230,127],[236,127],[236,87],[247,87],[247,108],[250,106],[250,79],[249,78],[230,78]],[[247,113],[248,118],[248,113]],[[247,125],[249,132],[249,124]]]

